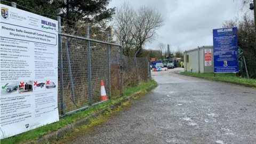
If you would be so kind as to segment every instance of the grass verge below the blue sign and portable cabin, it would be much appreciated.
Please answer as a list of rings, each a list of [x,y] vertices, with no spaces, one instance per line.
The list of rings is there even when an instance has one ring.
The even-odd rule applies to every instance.
[[[221,80],[221,81],[227,81],[227,82],[237,82],[241,84],[251,84],[256,86],[256,79],[248,79],[248,78],[240,78],[237,77],[236,74],[234,73],[217,73],[216,77],[214,77],[213,73],[190,73],[190,72],[182,72],[181,74],[183,75],[188,75],[188,76],[197,76],[197,77],[202,77],[205,79],[210,79],[210,80]]]

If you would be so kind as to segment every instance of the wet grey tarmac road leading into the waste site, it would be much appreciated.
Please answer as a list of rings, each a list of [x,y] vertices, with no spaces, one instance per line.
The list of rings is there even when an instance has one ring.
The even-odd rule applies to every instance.
[[[173,70],[152,75],[155,90],[66,143],[256,143],[256,89]]]

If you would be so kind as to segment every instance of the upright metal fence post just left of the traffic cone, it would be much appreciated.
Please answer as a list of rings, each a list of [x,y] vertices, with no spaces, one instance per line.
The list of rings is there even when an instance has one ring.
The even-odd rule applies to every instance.
[[[90,38],[90,26],[87,24],[86,37]],[[92,105],[92,69],[91,69],[91,47],[90,41],[88,41],[87,57],[88,57],[88,89],[89,89],[89,104]]]

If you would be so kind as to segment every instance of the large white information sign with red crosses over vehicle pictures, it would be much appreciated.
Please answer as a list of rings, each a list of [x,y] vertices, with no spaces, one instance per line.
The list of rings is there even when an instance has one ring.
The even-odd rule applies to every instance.
[[[1,4],[1,139],[59,121],[58,21]]]

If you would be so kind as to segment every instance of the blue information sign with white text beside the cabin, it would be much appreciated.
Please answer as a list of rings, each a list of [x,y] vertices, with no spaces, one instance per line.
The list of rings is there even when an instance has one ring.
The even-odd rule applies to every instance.
[[[214,73],[238,72],[237,27],[213,29]]]

